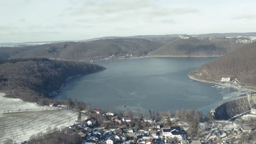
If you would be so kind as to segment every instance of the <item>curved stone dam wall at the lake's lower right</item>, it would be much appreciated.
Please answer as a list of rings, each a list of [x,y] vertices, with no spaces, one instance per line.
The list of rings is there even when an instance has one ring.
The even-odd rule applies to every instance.
[[[249,93],[246,96],[217,105],[211,110],[211,114],[216,120],[228,120],[236,115],[250,111],[254,104],[256,104],[256,93]]]

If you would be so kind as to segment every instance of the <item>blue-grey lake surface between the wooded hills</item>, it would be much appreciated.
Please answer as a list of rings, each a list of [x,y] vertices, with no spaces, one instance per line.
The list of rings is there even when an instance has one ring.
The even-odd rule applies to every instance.
[[[107,69],[72,80],[55,98],[71,97],[104,110],[139,107],[141,112],[200,109],[205,113],[223,100],[223,95],[237,92],[189,79],[191,70],[213,59],[151,57],[95,62]]]

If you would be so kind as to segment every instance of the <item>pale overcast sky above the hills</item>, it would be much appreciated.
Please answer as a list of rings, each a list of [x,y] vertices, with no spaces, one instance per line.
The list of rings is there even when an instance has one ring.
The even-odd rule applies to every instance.
[[[256,1],[0,0],[0,43],[256,32]]]

